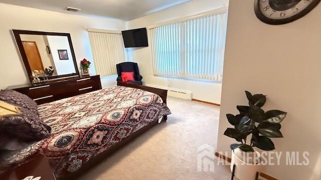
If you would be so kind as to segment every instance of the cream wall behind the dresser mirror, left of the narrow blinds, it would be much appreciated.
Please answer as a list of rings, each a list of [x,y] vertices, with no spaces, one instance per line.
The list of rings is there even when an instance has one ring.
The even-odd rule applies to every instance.
[[[123,21],[111,21],[4,3],[0,3],[0,24],[0,39],[2,41],[0,61],[3,63],[0,66],[0,89],[29,82],[11,29],[70,33],[78,64],[83,58],[93,61],[87,27],[111,30],[125,29]],[[90,68],[90,72],[95,72],[94,66]],[[114,78],[112,80],[116,83]],[[104,84],[102,85],[104,86]]]

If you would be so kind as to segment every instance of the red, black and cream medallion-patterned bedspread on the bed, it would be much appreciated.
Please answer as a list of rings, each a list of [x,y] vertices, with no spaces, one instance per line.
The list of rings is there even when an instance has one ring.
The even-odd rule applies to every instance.
[[[52,127],[52,135],[3,160],[9,167],[27,157],[46,154],[57,178],[171,113],[158,95],[123,86],[42,104],[38,109]]]

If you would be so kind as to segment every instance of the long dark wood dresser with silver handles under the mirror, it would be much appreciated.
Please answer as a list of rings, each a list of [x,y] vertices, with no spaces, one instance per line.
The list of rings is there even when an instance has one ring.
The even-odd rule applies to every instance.
[[[37,104],[52,102],[55,100],[95,91],[101,89],[99,75],[76,76],[63,79],[55,79],[38,84],[23,84],[10,86],[13,89],[34,99]]]

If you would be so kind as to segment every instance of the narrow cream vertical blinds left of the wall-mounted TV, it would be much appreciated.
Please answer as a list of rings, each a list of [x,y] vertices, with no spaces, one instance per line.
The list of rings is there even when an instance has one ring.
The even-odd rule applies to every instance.
[[[116,64],[125,61],[120,33],[88,31],[96,73],[101,76],[117,74]]]

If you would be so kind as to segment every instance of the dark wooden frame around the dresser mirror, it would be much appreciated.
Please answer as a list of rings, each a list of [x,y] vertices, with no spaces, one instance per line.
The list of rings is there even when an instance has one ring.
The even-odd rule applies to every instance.
[[[76,73],[70,73],[70,74],[63,74],[63,75],[54,75],[54,76],[48,76],[48,79],[55,79],[55,78],[61,78],[61,77],[69,77],[69,76],[75,76],[75,75],[79,75],[79,69],[78,69],[78,65],[77,65],[77,61],[76,61],[76,56],[75,56],[75,52],[74,52],[74,47],[72,45],[72,41],[71,41],[71,36],[70,33],[64,33],[64,32],[44,32],[44,31],[33,31],[33,30],[18,30],[18,29],[12,29],[15,39],[16,39],[16,43],[18,45],[22,60],[24,61],[27,73],[28,73],[28,77],[30,79],[30,81],[32,82],[32,70],[30,68],[29,62],[28,62],[28,58],[27,58],[27,54],[25,52],[24,46],[22,44],[22,40],[20,37],[20,34],[34,34],[34,35],[59,35],[59,36],[67,36],[68,37],[68,41],[69,41],[69,46],[70,46],[70,51],[71,51],[71,55],[74,61],[74,66],[75,66],[75,70]]]

